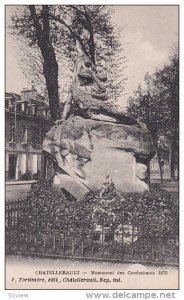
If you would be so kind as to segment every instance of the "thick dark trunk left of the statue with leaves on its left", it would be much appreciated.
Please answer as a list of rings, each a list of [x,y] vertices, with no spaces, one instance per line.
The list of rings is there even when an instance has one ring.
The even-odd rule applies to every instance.
[[[15,14],[12,21],[14,33],[26,38],[30,46],[38,47],[41,52],[51,117],[55,121],[60,117],[58,63],[53,47],[49,14],[50,8],[48,5],[43,5],[39,11],[35,5],[29,5],[23,8],[21,15]]]

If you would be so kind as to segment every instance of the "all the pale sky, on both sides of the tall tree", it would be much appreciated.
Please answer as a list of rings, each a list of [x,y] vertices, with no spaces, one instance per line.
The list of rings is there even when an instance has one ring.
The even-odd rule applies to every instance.
[[[168,61],[171,49],[178,43],[178,6],[113,6],[112,20],[124,27],[121,41],[127,60],[125,95],[119,103],[126,106],[129,95],[143,84],[146,72],[154,72],[156,67]],[[11,16],[7,12],[7,23]],[[18,51],[15,40],[6,33],[6,91],[20,94],[31,83],[23,75],[18,65]]]

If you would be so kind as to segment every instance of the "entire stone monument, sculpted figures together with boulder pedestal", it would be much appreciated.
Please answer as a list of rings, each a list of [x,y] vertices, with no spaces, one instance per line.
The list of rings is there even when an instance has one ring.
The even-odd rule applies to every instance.
[[[44,153],[54,161],[53,186],[80,199],[102,188],[109,176],[120,192],[144,192],[154,155],[149,131],[108,103],[107,75],[79,45],[78,52],[61,120],[43,141]]]

